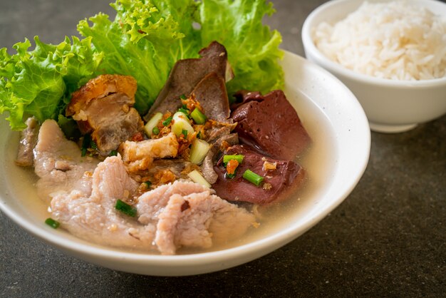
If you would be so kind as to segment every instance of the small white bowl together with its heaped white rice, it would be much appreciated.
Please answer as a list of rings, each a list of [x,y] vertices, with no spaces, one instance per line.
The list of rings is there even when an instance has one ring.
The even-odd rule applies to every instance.
[[[446,113],[446,4],[333,0],[304,22],[306,58],[355,94],[370,129],[400,133]]]

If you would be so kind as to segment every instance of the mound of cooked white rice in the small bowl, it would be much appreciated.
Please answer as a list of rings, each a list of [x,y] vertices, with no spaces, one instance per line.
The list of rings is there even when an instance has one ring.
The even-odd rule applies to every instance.
[[[446,17],[406,1],[366,1],[312,33],[323,54],[359,73],[395,80],[446,77]]]

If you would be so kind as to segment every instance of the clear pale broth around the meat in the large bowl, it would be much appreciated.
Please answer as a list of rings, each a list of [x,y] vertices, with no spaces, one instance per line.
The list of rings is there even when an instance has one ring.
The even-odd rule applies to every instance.
[[[223,250],[261,240],[286,229],[291,223],[299,221],[299,218],[308,212],[309,207],[317,203],[311,200],[311,197],[318,195],[318,192],[321,191],[321,185],[326,184],[334,173],[336,148],[333,148],[335,143],[333,140],[333,129],[323,111],[310,98],[306,97],[304,93],[299,91],[294,91],[293,93],[286,92],[286,96],[291,105],[298,111],[299,118],[304,123],[304,127],[312,140],[310,148],[303,155],[296,158],[296,162],[306,170],[306,182],[304,185],[289,195],[287,200],[271,207],[259,207],[258,211],[261,214],[259,227],[252,227],[241,239],[213,245],[209,250],[180,249],[177,251],[177,254]],[[37,176],[33,173],[33,169],[20,168],[14,164],[18,145],[19,133],[11,133],[9,145],[7,150],[5,150],[6,163],[2,167],[4,173],[7,173],[6,185],[9,185],[8,193],[16,198],[16,202],[21,205],[28,217],[36,225],[45,225],[44,220],[50,217],[51,213],[48,212],[47,202],[43,202],[36,193],[35,183],[38,180]],[[51,227],[48,227],[48,229],[51,229]],[[54,230],[54,232],[61,233],[63,237],[79,241],[78,238],[62,229]],[[81,242],[96,247],[103,247],[84,240],[81,240]],[[115,247],[106,247],[106,249],[120,250]],[[125,251],[128,250],[126,249]],[[135,252],[157,253],[153,251],[142,252],[136,249]]]

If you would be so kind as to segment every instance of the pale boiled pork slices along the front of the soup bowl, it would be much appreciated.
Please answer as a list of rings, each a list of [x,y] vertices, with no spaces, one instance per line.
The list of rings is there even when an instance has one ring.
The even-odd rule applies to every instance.
[[[74,189],[53,197],[52,217],[82,239],[158,250],[163,255],[175,254],[179,247],[208,248],[214,239],[239,237],[255,220],[254,215],[197,183],[177,180],[134,198],[138,185],[120,155],[108,157],[93,173],[90,195]],[[115,210],[118,199],[132,198],[138,201],[138,217]]]

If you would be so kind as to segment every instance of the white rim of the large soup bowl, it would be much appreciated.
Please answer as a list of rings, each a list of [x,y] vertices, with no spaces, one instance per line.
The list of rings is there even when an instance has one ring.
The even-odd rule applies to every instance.
[[[321,205],[317,214],[313,215],[311,218],[303,222],[301,225],[291,225],[290,227],[286,227],[284,230],[280,230],[268,237],[263,237],[258,240],[254,240],[253,242],[249,242],[243,245],[238,245],[236,247],[230,247],[223,250],[217,250],[212,252],[198,252],[195,254],[188,255],[155,255],[155,254],[145,254],[141,252],[125,252],[123,250],[116,249],[114,247],[102,247],[95,246],[94,243],[88,244],[83,243],[85,240],[81,240],[82,242],[78,242],[76,240],[69,239],[68,237],[64,237],[59,234],[56,230],[54,231],[51,227],[46,227],[44,225],[37,226],[33,223],[32,220],[28,218],[24,218],[21,216],[19,212],[10,209],[6,202],[4,201],[3,196],[0,194],[0,210],[4,212],[11,220],[16,222],[19,227],[22,227],[26,232],[29,232],[31,235],[34,235],[44,242],[47,242],[55,247],[60,248],[64,252],[68,252],[70,255],[74,255],[83,260],[89,260],[89,262],[93,262],[96,264],[100,264],[105,266],[103,262],[95,262],[94,260],[107,260],[110,263],[115,264],[135,264],[135,266],[143,266],[143,267],[155,267],[162,266],[166,268],[177,268],[184,269],[190,266],[198,266],[200,264],[206,264],[209,266],[213,266],[220,262],[230,263],[228,260],[236,260],[237,264],[233,263],[229,266],[223,266],[221,269],[226,269],[229,267],[234,267],[238,264],[243,264],[245,262],[249,262],[249,260],[254,260],[257,257],[261,257],[266,255],[267,253],[276,250],[278,247],[291,242],[296,239],[300,235],[304,234],[311,227],[316,225],[319,221],[321,221],[329,212],[334,210],[338,205],[343,202],[343,200],[350,195],[351,191],[356,187],[359,180],[363,176],[365,168],[368,165],[368,160],[370,158],[370,129],[368,129],[368,121],[365,117],[365,113],[361,108],[360,103],[356,100],[356,97],[351,93],[351,91],[341,82],[333,76],[331,73],[326,71],[325,69],[317,66],[310,61],[307,61],[305,58],[296,55],[295,53],[291,53],[289,51],[284,51],[284,59],[296,59],[301,66],[311,67],[312,70],[316,70],[319,73],[323,73],[324,78],[331,78],[336,81],[343,91],[346,92],[351,98],[355,99],[355,101],[351,101],[353,105],[352,108],[354,111],[358,111],[355,116],[361,119],[359,123],[359,128],[361,130],[361,134],[358,134],[361,148],[363,148],[363,152],[358,157],[358,163],[356,163],[353,172],[355,173],[354,179],[348,180],[347,183],[343,183],[343,185],[339,186],[339,190],[336,190],[336,194],[338,195],[335,199],[331,200],[331,204],[329,205]],[[283,63],[283,61],[282,61]],[[351,99],[349,98],[349,99]],[[2,116],[4,118],[4,116]],[[366,129],[367,128],[367,129]],[[357,140],[355,140],[357,141]],[[336,165],[336,173],[338,173],[338,167]],[[333,188],[334,183],[331,183],[331,187],[329,190]],[[74,236],[73,236],[74,237]],[[83,257],[81,257],[83,256]],[[86,258],[85,256],[88,256]],[[243,259],[242,262],[239,260]],[[115,269],[116,265],[110,264],[110,268]],[[215,267],[215,266],[214,266]],[[123,271],[128,271],[123,269]],[[200,270],[199,273],[206,272],[214,272],[217,269],[210,269],[209,271]],[[128,271],[132,272],[132,271]],[[199,273],[185,273],[179,272],[179,274],[173,275],[191,275],[191,274],[199,274]],[[144,273],[151,275],[172,275],[172,274],[152,274],[152,273]]]

